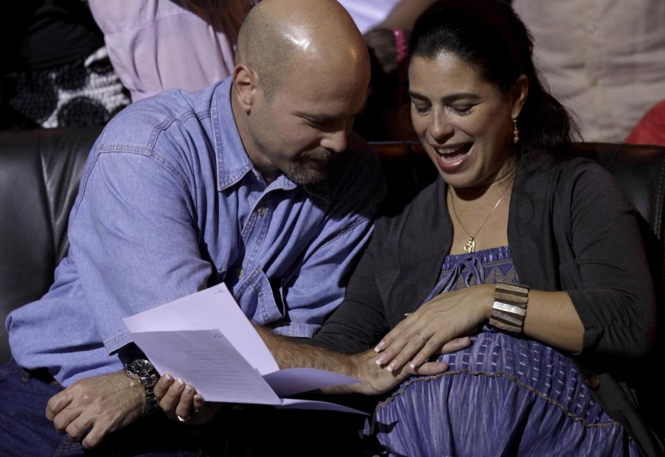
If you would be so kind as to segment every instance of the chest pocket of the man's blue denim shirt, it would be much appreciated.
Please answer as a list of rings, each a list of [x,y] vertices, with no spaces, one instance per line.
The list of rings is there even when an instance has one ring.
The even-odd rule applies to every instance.
[[[240,308],[252,322],[266,325],[284,318],[281,301],[278,303],[272,285],[260,267],[256,267],[234,294]]]

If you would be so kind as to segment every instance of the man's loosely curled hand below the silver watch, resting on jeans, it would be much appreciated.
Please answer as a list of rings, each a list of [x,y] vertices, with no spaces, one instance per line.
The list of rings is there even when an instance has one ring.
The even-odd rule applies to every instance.
[[[80,379],[48,400],[46,418],[86,449],[107,434],[141,417],[145,395],[141,382],[124,371]],[[86,432],[88,432],[86,434]]]

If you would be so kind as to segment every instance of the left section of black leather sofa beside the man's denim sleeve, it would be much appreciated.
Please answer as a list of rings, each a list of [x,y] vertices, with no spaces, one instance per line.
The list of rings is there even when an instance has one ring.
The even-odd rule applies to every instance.
[[[4,321],[53,283],[67,255],[67,220],[100,127],[0,132],[0,363],[10,358]]]

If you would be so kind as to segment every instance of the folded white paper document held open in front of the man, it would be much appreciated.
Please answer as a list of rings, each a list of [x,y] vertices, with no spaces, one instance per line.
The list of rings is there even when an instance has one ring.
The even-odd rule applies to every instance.
[[[208,402],[364,414],[339,404],[283,398],[358,380],[311,368],[280,370],[224,284],[123,320],[159,373],[194,386]]]

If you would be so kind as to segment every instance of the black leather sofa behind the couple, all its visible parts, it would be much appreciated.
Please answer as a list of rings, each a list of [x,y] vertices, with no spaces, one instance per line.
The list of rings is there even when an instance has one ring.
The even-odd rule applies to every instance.
[[[87,154],[100,127],[0,132],[0,319],[42,296],[67,254],[67,220]],[[373,143],[387,175],[389,199],[433,179],[418,145]],[[657,292],[662,296],[665,148],[580,144],[617,177],[641,217]],[[662,301],[660,302],[662,303]],[[10,357],[4,325],[0,362]]]

